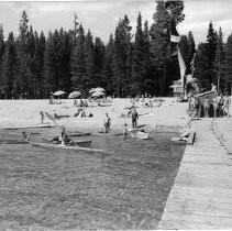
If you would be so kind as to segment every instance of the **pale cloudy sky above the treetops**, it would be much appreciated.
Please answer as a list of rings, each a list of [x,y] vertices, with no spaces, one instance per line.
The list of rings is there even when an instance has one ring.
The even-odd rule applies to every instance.
[[[74,13],[84,29],[90,29],[93,36],[100,36],[108,42],[110,33],[114,33],[120,18],[126,13],[135,31],[136,18],[142,13],[143,21],[153,23],[153,13],[156,3],[154,0],[82,0],[59,2],[0,2],[0,24],[3,25],[4,36],[10,31],[15,35],[19,32],[21,13],[26,10],[30,24],[36,31],[64,28],[73,29]],[[209,22],[212,21],[214,29],[222,28],[224,40],[232,33],[232,0],[185,0],[185,21],[179,25],[179,33],[194,32],[197,43],[206,41]]]

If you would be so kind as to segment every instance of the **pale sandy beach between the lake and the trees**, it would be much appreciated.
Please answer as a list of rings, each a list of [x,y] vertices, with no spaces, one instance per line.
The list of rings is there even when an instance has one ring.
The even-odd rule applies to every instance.
[[[48,100],[1,100],[0,101],[0,128],[5,127],[30,127],[41,124],[40,111],[47,111],[51,114],[56,112],[59,116],[69,116],[57,120],[58,124],[64,125],[67,130],[88,130],[97,131],[102,128],[102,121],[106,112],[111,117],[112,131],[122,130],[123,124],[131,127],[130,118],[120,118],[126,114],[126,107],[131,107],[130,99],[113,99],[110,107],[92,107],[86,108],[87,116],[91,112],[92,118],[75,118],[77,107],[74,100],[62,100],[60,105],[48,105]],[[137,108],[139,124],[146,124],[146,129],[155,129],[156,127],[178,127],[185,128],[189,121],[187,116],[187,103],[176,102],[175,98],[165,98],[161,107],[143,108],[141,102],[135,103]],[[45,123],[51,123],[45,119]]]

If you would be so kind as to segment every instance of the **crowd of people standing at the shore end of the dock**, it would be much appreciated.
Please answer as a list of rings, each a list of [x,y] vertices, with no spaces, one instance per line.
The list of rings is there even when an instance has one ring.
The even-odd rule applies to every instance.
[[[206,95],[203,97],[189,97],[189,114],[200,117],[231,117],[231,98],[227,95]]]

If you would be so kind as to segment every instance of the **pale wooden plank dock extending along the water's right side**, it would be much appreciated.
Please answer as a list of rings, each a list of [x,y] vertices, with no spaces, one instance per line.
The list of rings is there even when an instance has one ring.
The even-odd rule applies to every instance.
[[[158,229],[232,229],[232,119],[194,121]]]

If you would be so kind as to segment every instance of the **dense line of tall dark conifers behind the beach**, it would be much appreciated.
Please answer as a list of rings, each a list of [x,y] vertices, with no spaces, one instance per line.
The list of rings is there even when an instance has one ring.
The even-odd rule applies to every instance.
[[[172,54],[170,20],[164,2],[157,2],[153,19],[150,26],[139,13],[132,34],[125,14],[106,44],[79,23],[74,30],[49,31],[45,36],[33,30],[23,11],[18,36],[10,32],[4,38],[0,25],[0,98],[47,98],[56,90],[80,90],[85,97],[93,87],[103,87],[115,97],[169,95],[169,86],[180,74],[177,56]],[[210,89],[220,79],[221,89],[231,90],[232,35],[224,43],[222,30],[217,32],[210,22],[206,43],[196,47],[189,32],[179,46],[186,75],[191,73],[196,53],[194,77],[202,88]]]

